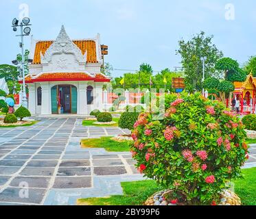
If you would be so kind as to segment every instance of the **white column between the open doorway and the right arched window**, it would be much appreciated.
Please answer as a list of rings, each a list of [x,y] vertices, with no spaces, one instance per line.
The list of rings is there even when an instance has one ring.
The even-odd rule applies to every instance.
[[[87,83],[85,81],[79,81],[78,85],[78,114],[87,115],[87,95],[86,95]]]

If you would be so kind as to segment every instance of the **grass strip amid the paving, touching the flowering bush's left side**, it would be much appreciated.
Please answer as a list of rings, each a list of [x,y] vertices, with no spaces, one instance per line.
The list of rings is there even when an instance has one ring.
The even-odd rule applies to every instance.
[[[106,149],[106,151],[130,151],[131,141],[116,142],[110,138],[112,137],[84,139],[81,141],[81,145],[83,148],[103,148]]]

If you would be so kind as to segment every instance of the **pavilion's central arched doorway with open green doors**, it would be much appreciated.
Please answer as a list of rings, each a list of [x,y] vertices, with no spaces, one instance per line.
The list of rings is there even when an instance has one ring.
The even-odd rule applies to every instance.
[[[77,114],[78,90],[72,85],[58,85],[51,88],[52,114]]]

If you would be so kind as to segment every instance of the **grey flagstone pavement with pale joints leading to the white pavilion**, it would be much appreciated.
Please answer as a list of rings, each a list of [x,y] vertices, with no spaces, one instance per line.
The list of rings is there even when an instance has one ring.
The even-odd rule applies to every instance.
[[[81,149],[82,138],[129,133],[83,127],[81,118],[42,118],[0,129],[0,205],[75,205],[78,198],[122,194],[121,181],[144,179],[129,152]],[[256,144],[244,168],[256,166]]]

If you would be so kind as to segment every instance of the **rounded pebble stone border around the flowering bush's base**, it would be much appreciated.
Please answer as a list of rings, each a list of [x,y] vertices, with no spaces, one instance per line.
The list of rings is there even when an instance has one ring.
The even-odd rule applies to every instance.
[[[172,190],[163,190],[156,192],[144,203],[144,205],[185,205],[185,203],[172,204],[165,200],[166,194],[171,194]],[[230,190],[223,190],[220,193],[220,203],[218,205],[241,205],[240,198]]]

